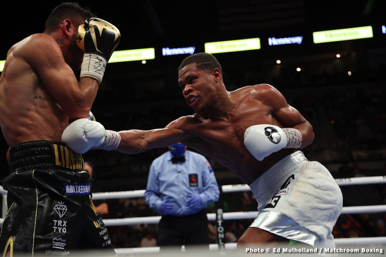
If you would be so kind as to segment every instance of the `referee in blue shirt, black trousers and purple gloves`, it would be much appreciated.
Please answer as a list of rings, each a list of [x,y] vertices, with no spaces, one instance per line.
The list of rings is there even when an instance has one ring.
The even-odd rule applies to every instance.
[[[162,214],[158,244],[181,251],[185,245],[208,245],[205,208],[218,201],[220,191],[205,156],[186,150],[183,144],[154,159],[150,166],[146,203]],[[188,247],[186,247],[188,250]]]

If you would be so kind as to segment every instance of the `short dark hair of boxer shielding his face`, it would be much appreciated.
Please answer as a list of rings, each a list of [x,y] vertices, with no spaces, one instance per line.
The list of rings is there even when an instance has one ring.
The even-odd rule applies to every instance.
[[[90,11],[90,8],[81,7],[75,2],[64,2],[56,6],[46,20],[44,32],[56,30],[64,19],[71,19],[75,23],[81,23],[86,18],[97,17]]]

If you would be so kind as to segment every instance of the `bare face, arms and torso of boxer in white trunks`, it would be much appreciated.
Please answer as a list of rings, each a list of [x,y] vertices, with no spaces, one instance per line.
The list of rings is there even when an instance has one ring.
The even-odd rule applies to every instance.
[[[179,71],[178,83],[195,114],[180,117],[160,130],[120,131],[117,151],[134,154],[182,142],[251,184],[295,149],[282,149],[257,161],[244,145],[246,128],[257,124],[293,127],[303,135],[301,148],[313,141],[310,123],[273,86],[245,86],[229,92],[218,69],[204,71],[195,63]]]

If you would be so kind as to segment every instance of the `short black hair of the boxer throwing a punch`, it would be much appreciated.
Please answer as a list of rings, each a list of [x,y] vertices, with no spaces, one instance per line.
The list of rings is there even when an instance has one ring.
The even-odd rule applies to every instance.
[[[216,57],[207,52],[198,52],[186,57],[178,67],[178,71],[184,68],[188,64],[195,63],[197,69],[202,69],[205,71],[213,71],[213,69],[218,68],[222,73],[222,68]]]

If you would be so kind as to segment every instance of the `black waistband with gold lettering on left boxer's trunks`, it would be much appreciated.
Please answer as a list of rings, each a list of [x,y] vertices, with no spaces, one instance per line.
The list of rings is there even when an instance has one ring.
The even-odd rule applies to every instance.
[[[46,169],[61,167],[70,170],[84,170],[81,154],[69,149],[58,141],[37,140],[15,145],[9,150],[10,171],[25,169]]]

